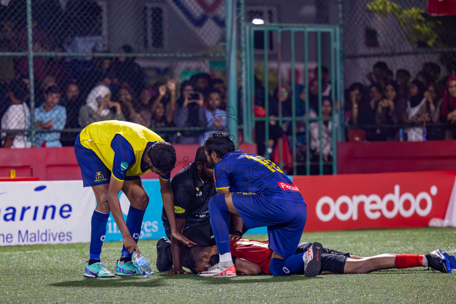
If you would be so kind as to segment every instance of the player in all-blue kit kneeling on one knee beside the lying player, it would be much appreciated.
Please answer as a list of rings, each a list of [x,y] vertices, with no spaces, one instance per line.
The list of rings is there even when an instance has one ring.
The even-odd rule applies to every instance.
[[[305,269],[305,275],[320,273],[320,243],[295,254],[306,224],[307,209],[299,189],[270,160],[236,151],[230,135],[214,132],[205,142],[206,154],[215,165],[218,194],[209,200],[212,232],[218,247],[219,262],[201,277],[235,277],[230,252],[228,213],[240,216],[250,229],[268,227],[272,250],[270,273],[284,276]]]

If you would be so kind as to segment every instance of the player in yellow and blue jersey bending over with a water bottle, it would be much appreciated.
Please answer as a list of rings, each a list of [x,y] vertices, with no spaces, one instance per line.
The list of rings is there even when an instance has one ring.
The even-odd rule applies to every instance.
[[[76,138],[74,153],[81,168],[83,185],[92,187],[97,200],[92,215],[90,259],[84,269],[85,277],[114,277],[100,262],[109,211],[124,240],[115,273],[140,275],[138,268],[131,262],[131,253],[135,249],[140,255],[136,242],[149,204],[149,196],[139,175],[150,171],[160,175],[163,206],[168,214],[173,237],[188,245],[196,245],[176,230],[170,187],[171,170],[176,166],[176,151],[170,143],[139,124],[107,120],[84,128]],[[120,209],[120,190],[130,201],[126,223]]]

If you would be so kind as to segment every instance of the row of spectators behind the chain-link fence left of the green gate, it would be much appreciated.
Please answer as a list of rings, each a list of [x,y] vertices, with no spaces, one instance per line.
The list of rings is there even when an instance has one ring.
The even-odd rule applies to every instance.
[[[121,120],[141,124],[150,129],[177,127],[176,131],[159,132],[172,143],[200,144],[214,129],[226,129],[225,87],[221,79],[198,73],[181,83],[179,93],[174,80],[155,82],[135,91],[128,82],[119,83],[111,75],[104,75],[83,96],[74,79],[62,91],[57,77],[47,74],[39,82],[34,112],[37,147],[73,145],[78,132],[50,132],[50,130],[81,129],[102,120]],[[29,80],[13,79],[1,101],[2,146],[30,147],[23,130],[31,126]],[[184,127],[187,131],[179,131]],[[188,128],[187,128],[188,129]],[[206,130],[205,132],[203,132]],[[61,135],[62,133],[62,135]]]

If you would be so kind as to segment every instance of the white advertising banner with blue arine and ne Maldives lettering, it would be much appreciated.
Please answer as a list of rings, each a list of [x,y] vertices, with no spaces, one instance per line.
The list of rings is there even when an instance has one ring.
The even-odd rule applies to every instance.
[[[0,246],[90,242],[94,206],[82,180],[0,182]]]

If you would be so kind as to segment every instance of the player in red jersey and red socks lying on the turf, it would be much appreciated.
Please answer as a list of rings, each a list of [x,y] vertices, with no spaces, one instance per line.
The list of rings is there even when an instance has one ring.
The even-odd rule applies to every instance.
[[[300,243],[296,254],[307,252],[312,243]],[[231,255],[237,273],[244,275],[270,274],[272,250],[268,242],[255,240],[232,240],[230,242]],[[210,269],[218,262],[217,246],[194,246],[186,250],[187,264],[193,273]],[[314,257],[315,258],[315,257]],[[456,259],[448,253],[437,249],[425,255],[420,254],[391,254],[385,253],[373,257],[358,257],[350,253],[343,253],[323,248],[321,254],[321,270],[324,273],[370,273],[382,269],[430,267],[442,273],[451,272],[456,268]],[[284,268],[285,272],[289,269]],[[296,274],[304,274],[304,268],[298,269]]]

